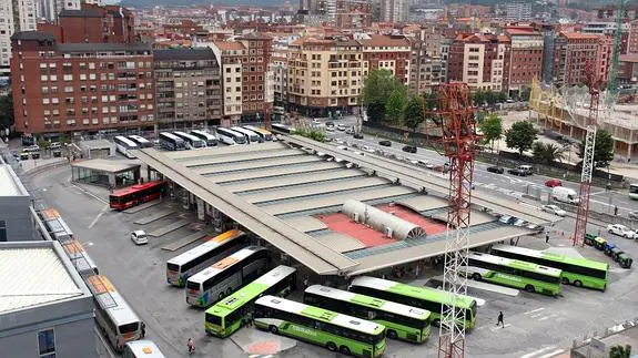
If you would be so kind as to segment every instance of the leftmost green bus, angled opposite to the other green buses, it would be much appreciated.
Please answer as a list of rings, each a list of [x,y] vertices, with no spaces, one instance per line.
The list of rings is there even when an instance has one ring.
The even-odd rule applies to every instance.
[[[285,297],[296,287],[296,269],[280,265],[206,310],[205,330],[224,338],[243,327],[255,299],[273,295]]]

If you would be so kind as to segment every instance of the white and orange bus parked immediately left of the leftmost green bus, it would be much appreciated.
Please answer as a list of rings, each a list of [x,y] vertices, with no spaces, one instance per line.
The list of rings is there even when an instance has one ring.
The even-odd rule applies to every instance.
[[[209,268],[186,279],[186,303],[207,307],[263,274],[269,252],[262,246],[249,246],[231,254]]]

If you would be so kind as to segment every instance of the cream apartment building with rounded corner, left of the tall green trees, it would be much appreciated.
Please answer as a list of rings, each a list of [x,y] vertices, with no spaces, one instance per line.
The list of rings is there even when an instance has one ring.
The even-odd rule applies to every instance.
[[[311,116],[357,113],[363,71],[363,45],[356,40],[294,41],[288,53],[288,109]]]

